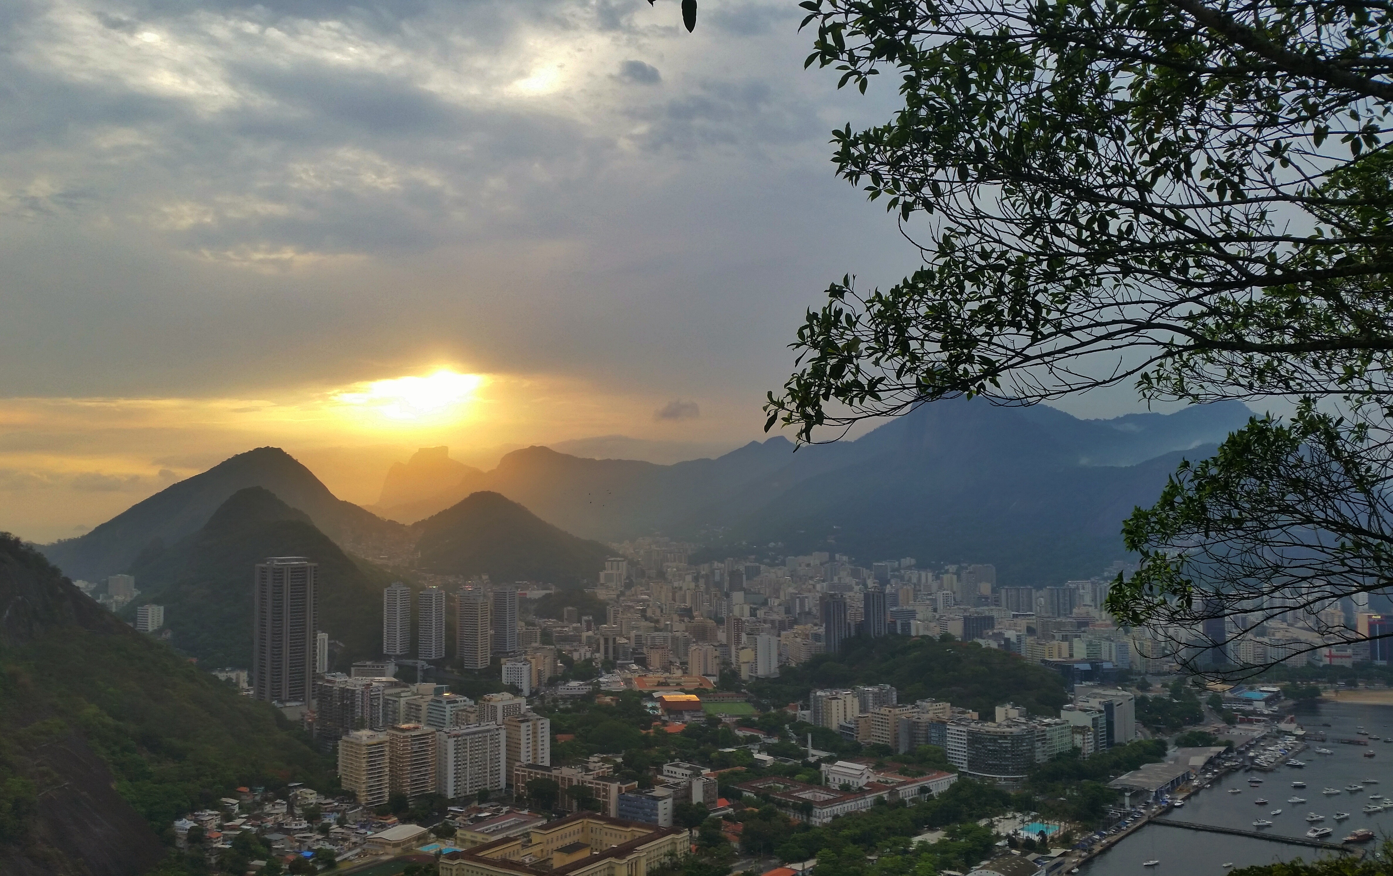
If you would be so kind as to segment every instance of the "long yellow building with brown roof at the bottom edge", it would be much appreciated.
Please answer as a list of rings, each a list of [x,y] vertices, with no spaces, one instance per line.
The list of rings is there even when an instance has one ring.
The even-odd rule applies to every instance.
[[[646,876],[688,852],[680,827],[582,812],[440,858],[440,876]]]

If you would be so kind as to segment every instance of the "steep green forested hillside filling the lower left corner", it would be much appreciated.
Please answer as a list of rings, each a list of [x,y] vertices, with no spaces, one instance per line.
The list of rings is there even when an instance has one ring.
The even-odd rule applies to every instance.
[[[135,876],[164,857],[177,815],[238,785],[336,788],[274,709],[120,623],[8,533],[0,703],[6,876]]]

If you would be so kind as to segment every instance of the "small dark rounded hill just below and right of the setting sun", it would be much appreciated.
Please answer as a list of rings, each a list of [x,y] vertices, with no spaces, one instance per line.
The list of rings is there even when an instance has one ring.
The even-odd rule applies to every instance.
[[[418,568],[493,581],[545,581],[575,586],[595,581],[613,552],[539,519],[497,493],[464,501],[411,526]]]

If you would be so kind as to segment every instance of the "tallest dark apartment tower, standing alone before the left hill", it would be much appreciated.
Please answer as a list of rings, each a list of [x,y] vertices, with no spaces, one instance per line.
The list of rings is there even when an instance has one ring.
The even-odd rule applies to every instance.
[[[309,702],[315,680],[315,578],[304,557],[267,557],[252,578],[252,696]]]

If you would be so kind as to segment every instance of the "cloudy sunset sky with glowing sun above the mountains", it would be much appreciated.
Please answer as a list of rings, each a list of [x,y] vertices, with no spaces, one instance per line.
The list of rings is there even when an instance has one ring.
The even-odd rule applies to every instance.
[[[893,81],[804,70],[793,0],[680,19],[0,0],[0,531],[81,535],[265,444],[366,504],[421,446],[763,437],[822,290],[915,265],[827,145]]]

